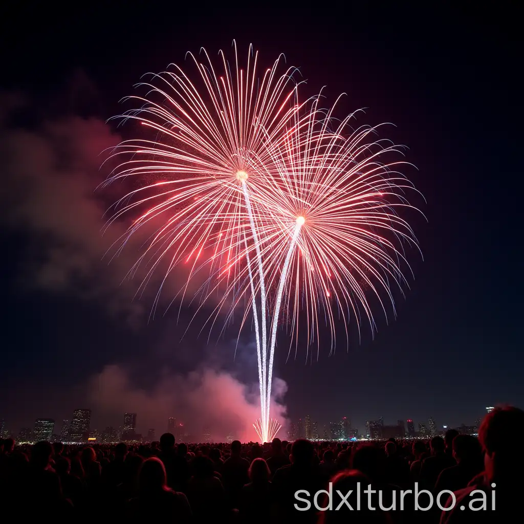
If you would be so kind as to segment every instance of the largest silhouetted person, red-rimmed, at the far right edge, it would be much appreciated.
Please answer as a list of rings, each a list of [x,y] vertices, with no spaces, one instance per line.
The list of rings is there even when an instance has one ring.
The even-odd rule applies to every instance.
[[[520,521],[524,456],[515,435],[522,434],[524,411],[520,409],[495,408],[484,417],[478,432],[484,450],[484,482],[455,492],[456,504],[453,509],[442,512],[441,524]],[[472,510],[482,508],[482,494],[485,494],[486,510]],[[448,505],[451,503],[450,497]]]

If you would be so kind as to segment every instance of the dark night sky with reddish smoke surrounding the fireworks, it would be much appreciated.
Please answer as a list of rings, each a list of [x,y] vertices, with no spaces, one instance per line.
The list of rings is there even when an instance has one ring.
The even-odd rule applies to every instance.
[[[179,325],[175,309],[147,323],[151,299],[132,303],[137,282],[120,282],[137,252],[101,261],[105,209],[93,193],[107,174],[98,155],[118,141],[104,121],[140,75],[201,46],[228,51],[233,39],[245,50],[252,42],[267,65],[285,53],[308,94],[326,85],[332,101],[347,93],[345,111],[367,108],[365,123],[394,123],[387,136],[409,146],[418,171],[408,174],[427,199],[416,204],[428,222],[413,221],[424,260],[410,254],[415,279],[396,321],[379,318],[374,341],[365,333],[348,353],[321,351],[318,361],[299,350],[286,362],[281,335],[275,373],[288,387],[288,416],[347,416],[362,431],[380,416],[459,425],[488,405],[524,406],[522,40],[509,3],[485,11],[95,5],[13,7],[2,21],[0,418],[9,429],[70,418],[77,407],[93,409],[92,427],[120,425],[136,410],[138,429],[157,432],[167,414],[196,428],[211,411],[230,410],[233,420],[249,409],[249,331],[234,360],[235,326],[206,347],[193,329],[180,342],[189,308]],[[229,391],[222,408],[213,406],[216,388]]]

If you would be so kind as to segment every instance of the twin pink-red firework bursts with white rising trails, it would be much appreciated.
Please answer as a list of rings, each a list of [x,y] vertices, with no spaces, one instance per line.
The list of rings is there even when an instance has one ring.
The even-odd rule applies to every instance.
[[[147,267],[140,292],[162,268],[153,311],[173,269],[188,264],[181,303],[190,280],[205,272],[200,307],[220,295],[212,325],[242,307],[242,329],[253,312],[261,412],[254,428],[264,442],[280,429],[269,415],[281,309],[296,344],[301,309],[310,343],[319,342],[325,318],[332,350],[335,308],[346,334],[350,316],[360,330],[361,310],[373,331],[365,291],[386,312],[381,292],[392,304],[390,281],[407,283],[403,245],[417,243],[397,210],[410,207],[405,192],[412,186],[398,173],[402,162],[383,162],[398,148],[370,140],[376,127],[351,130],[353,115],[333,125],[333,108],[322,110],[320,95],[299,103],[296,70],[280,74],[281,58],[259,80],[252,48],[245,69],[236,46],[233,67],[221,52],[222,75],[202,52],[203,63],[189,54],[198,70],[194,82],[173,65],[139,84],[145,96],[130,97],[140,108],[122,118],[155,138],[116,148],[113,158],[122,161],[106,183],[146,183],[117,202],[110,223],[124,213],[137,216],[119,248],[140,228],[156,228],[130,271]]]

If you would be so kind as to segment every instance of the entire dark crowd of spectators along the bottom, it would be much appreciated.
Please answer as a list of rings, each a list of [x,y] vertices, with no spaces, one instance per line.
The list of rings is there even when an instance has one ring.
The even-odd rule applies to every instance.
[[[504,407],[486,415],[478,439],[455,430],[430,441],[365,443],[188,445],[170,433],[137,446],[6,439],[0,507],[22,521],[503,522],[521,515],[523,434],[524,411]],[[417,495],[416,483],[425,492]],[[309,507],[297,492],[309,494]],[[444,509],[434,503],[441,492]]]

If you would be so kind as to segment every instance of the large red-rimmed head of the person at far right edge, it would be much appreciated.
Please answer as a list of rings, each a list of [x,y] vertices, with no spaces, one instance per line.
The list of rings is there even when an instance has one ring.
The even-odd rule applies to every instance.
[[[521,478],[524,458],[516,449],[515,435],[522,433],[524,411],[518,408],[495,408],[484,417],[478,438],[485,452],[484,466],[489,481]]]

